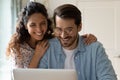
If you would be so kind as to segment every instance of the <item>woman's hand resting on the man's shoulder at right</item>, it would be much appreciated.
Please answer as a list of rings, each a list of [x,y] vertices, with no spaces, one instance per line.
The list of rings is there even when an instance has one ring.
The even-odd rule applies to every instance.
[[[84,37],[84,42],[87,45],[91,44],[92,42],[97,41],[96,36],[94,36],[93,34],[84,34],[84,35],[82,35],[82,37]]]

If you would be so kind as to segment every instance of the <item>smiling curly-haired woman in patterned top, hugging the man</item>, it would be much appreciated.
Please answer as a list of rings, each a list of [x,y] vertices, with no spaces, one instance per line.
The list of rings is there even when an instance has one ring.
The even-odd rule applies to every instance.
[[[44,5],[30,2],[20,13],[16,32],[7,48],[13,68],[37,68],[53,38],[51,21]],[[86,44],[96,41],[94,35],[83,35]]]

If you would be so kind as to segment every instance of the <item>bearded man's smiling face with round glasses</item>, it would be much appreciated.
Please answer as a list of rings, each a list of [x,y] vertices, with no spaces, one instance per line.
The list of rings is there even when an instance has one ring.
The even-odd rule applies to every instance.
[[[74,49],[77,46],[78,32],[81,25],[76,25],[74,19],[62,19],[56,16],[55,36],[66,49]]]

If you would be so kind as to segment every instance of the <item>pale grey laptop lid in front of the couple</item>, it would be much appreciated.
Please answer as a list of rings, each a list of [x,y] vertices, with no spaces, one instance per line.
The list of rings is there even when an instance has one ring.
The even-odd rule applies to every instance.
[[[70,69],[14,69],[14,80],[77,80],[75,70]]]

